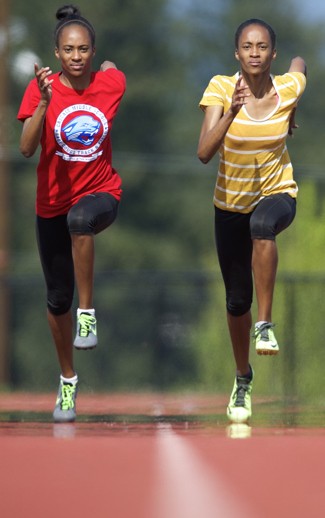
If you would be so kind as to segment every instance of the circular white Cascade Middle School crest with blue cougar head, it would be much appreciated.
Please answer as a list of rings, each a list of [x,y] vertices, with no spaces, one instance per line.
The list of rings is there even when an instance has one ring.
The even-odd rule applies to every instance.
[[[64,160],[90,162],[102,154],[98,151],[108,133],[107,119],[98,108],[75,104],[63,110],[54,126],[54,135]]]

